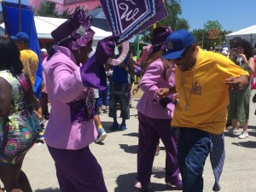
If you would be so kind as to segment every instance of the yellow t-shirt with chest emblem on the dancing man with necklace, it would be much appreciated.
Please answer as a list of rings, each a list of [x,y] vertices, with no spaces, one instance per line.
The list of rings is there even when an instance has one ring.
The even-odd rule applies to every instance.
[[[199,49],[195,67],[185,72],[176,67],[179,102],[174,110],[172,126],[222,133],[230,102],[224,80],[241,74],[249,75],[224,55]],[[189,108],[186,110],[187,103]]]

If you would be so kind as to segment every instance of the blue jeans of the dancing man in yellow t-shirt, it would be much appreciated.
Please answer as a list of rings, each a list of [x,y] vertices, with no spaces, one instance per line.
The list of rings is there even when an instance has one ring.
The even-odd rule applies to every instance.
[[[183,192],[203,191],[202,174],[210,149],[208,132],[182,128],[177,142],[177,162],[182,175]]]

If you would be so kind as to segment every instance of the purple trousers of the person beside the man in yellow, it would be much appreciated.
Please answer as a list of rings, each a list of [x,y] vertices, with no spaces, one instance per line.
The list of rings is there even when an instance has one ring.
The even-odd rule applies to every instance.
[[[180,182],[177,165],[177,137],[171,135],[171,119],[153,119],[138,112],[139,141],[137,151],[137,181],[150,183],[155,148],[162,140],[166,147],[166,182]]]

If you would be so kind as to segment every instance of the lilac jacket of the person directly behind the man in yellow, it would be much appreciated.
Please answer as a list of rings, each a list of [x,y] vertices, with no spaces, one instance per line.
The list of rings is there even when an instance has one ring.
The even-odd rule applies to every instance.
[[[140,88],[144,94],[137,103],[137,110],[144,115],[155,119],[172,119],[174,104],[170,102],[166,109],[160,106],[160,97],[157,96],[159,88],[172,88],[175,86],[175,74],[167,69],[166,80],[163,78],[164,63],[158,59],[152,62],[143,75]]]

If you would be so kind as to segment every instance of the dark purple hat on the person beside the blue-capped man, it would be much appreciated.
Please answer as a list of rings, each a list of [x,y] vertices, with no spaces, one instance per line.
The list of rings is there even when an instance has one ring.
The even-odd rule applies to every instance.
[[[158,26],[152,32],[151,44],[153,47],[152,54],[159,50],[165,50],[166,38],[172,33],[172,28],[168,26]]]

